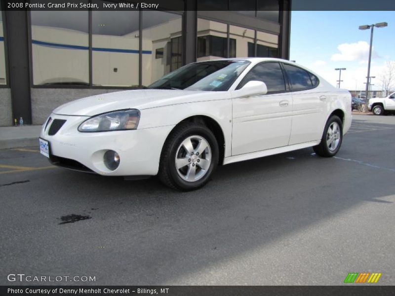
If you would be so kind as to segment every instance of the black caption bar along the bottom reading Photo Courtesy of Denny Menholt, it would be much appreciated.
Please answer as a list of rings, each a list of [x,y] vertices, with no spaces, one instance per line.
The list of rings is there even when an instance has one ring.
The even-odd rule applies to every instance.
[[[1,296],[387,296],[395,286],[0,286]],[[14,293],[12,293],[12,290]],[[76,291],[60,293],[61,289]],[[82,290],[80,290],[82,289]],[[106,290],[107,289],[107,290]],[[110,291],[113,292],[110,292]],[[117,291],[118,292],[114,292]],[[18,292],[15,292],[18,291]],[[48,293],[49,292],[49,293]]]

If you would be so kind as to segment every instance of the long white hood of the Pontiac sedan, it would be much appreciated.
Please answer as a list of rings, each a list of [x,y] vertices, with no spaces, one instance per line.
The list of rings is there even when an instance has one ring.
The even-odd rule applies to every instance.
[[[144,110],[167,105],[220,99],[226,93],[173,89],[126,90],[79,99],[66,103],[53,112],[62,115],[93,116],[122,109]]]

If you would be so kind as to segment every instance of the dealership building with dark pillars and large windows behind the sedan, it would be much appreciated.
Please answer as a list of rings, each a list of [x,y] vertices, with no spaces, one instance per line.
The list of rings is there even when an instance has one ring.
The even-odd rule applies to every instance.
[[[176,2],[183,10],[3,8],[0,126],[42,124],[61,104],[148,86],[196,61],[289,58],[291,0]]]

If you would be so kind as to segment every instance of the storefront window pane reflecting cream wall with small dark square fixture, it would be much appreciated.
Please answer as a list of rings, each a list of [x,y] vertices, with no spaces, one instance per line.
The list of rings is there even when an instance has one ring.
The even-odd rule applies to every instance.
[[[92,83],[138,86],[139,12],[92,11]]]

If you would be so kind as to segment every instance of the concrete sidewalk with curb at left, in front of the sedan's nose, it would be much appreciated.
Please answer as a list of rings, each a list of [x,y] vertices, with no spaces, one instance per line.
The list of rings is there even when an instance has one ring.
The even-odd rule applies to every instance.
[[[0,149],[39,146],[41,125],[1,126]]]

